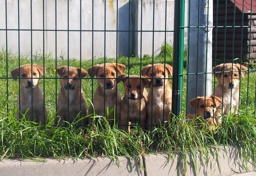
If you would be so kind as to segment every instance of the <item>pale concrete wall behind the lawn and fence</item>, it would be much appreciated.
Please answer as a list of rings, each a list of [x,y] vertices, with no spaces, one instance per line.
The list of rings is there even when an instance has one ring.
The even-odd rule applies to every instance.
[[[56,0],[56,10],[54,0],[44,0],[44,8],[43,0],[32,0],[32,29],[39,30],[32,31],[32,45],[30,1],[20,0],[18,23],[18,1],[7,0],[7,4],[5,4],[5,1],[1,0],[0,46],[3,48],[6,47],[6,5],[7,49],[11,50],[12,53],[18,53],[20,47],[20,54],[30,55],[30,53],[35,54],[37,52],[41,54],[44,46],[45,54],[52,53],[55,56],[56,53],[57,57],[62,55],[64,57],[69,56],[69,58],[80,58],[80,0]],[[166,42],[171,44],[173,42],[173,32],[165,32],[165,6],[167,6],[166,30],[169,31],[173,30],[174,0],[167,0],[167,3],[165,0],[155,0],[155,4],[153,4],[153,0],[143,0],[142,6],[141,0],[131,0],[130,5],[129,0],[118,0],[118,2],[117,0],[106,0],[105,29],[105,1],[94,0],[92,4],[92,1],[82,0],[81,58],[91,59],[104,55],[116,57],[116,54],[128,55],[128,53],[142,56],[144,54],[152,55],[153,52],[158,54],[159,48],[165,42],[165,34]],[[153,7],[155,8],[154,20]],[[186,21],[185,24],[187,24]],[[20,41],[18,40],[18,28],[20,28]],[[43,29],[52,30],[45,31],[44,42]],[[57,32],[55,32],[56,29]],[[141,29],[142,35],[141,32],[130,32],[129,34],[129,32],[120,31],[140,31]],[[70,31],[67,32],[67,30]],[[148,32],[153,30],[161,31],[154,32],[154,48],[153,32]],[[104,53],[104,49],[106,49],[106,53]]]

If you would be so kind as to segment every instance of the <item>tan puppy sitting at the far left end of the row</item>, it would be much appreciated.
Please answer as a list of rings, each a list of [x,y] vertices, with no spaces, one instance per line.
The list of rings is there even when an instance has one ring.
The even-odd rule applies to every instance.
[[[39,87],[39,77],[40,75],[43,76],[45,71],[45,67],[37,64],[26,64],[11,71],[15,81],[17,77],[20,77],[20,92],[16,103],[18,108],[16,116],[22,117],[22,114],[29,109],[26,119],[36,120],[41,125],[45,125],[47,121],[47,109],[43,102],[43,92]],[[22,114],[19,113],[19,109]]]

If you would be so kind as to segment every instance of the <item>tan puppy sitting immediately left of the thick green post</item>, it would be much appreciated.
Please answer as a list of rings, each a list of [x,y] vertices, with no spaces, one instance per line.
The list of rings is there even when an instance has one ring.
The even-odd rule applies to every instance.
[[[153,68],[152,65],[147,65],[142,68],[141,75],[153,78],[147,102],[148,125],[151,124],[151,120],[151,125],[159,125],[163,118],[169,120],[172,109],[172,89],[168,78],[170,75],[173,76],[173,67],[168,64],[164,67],[161,63],[154,64]]]

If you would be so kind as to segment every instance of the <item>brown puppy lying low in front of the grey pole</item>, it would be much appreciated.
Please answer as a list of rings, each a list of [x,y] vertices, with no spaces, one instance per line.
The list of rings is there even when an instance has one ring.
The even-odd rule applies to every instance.
[[[189,101],[191,107],[195,110],[195,114],[188,114],[189,119],[193,119],[195,117],[203,117],[207,122],[208,127],[211,130],[215,129],[217,123],[221,124],[221,116],[219,111],[216,111],[216,107],[221,104],[221,98],[214,97],[196,97]],[[198,123],[200,124],[200,122]],[[202,127],[202,125],[199,125]]]

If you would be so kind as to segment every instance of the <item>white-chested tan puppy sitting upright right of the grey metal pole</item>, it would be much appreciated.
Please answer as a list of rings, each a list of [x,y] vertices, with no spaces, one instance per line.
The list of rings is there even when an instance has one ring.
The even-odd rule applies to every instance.
[[[241,70],[240,70],[241,69]],[[217,107],[217,110],[222,114],[229,112],[237,114],[239,107],[239,82],[240,76],[243,78],[247,72],[247,67],[240,64],[226,63],[213,67],[213,72],[218,79],[218,84],[215,87],[215,96],[222,98],[222,103]],[[230,71],[218,73],[223,71]],[[222,94],[223,91],[223,94]],[[232,92],[232,94],[231,94]]]

